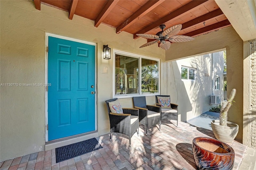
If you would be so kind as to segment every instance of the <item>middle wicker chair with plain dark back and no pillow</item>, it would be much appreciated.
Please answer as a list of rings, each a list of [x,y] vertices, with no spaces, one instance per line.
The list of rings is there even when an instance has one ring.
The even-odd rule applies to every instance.
[[[146,135],[148,134],[148,127],[159,123],[159,130],[161,128],[160,111],[161,107],[146,104],[146,97],[132,97],[133,105],[139,109],[140,124],[146,127]]]

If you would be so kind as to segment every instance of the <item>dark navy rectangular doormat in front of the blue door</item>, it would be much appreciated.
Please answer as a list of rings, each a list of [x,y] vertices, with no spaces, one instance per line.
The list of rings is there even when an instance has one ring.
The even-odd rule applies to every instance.
[[[56,163],[102,148],[96,138],[56,148]]]

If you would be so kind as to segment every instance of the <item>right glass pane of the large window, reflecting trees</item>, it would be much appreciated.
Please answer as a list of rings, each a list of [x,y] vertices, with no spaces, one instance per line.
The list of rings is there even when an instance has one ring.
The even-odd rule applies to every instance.
[[[158,61],[142,58],[141,63],[142,94],[158,92]]]

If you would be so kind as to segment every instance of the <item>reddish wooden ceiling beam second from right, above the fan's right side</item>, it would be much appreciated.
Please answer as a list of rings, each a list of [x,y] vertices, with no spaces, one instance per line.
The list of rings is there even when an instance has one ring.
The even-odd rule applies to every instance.
[[[190,20],[188,22],[185,22],[182,24],[182,29],[181,30],[184,30],[185,28],[189,28],[191,26],[194,26],[196,24],[199,24],[200,22],[204,22],[206,20],[210,20],[210,19],[213,19],[213,18],[216,18],[220,15],[224,15],[222,10],[220,10],[220,8],[218,8],[217,10],[214,10],[212,12],[209,12],[207,14],[204,14],[198,18],[195,18],[193,20]]]

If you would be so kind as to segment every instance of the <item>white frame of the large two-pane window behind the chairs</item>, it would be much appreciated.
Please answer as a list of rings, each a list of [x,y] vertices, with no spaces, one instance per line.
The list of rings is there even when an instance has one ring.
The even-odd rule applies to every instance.
[[[115,84],[116,84],[116,54],[118,55],[125,55],[127,57],[133,57],[133,58],[138,58],[139,59],[139,76],[138,76],[138,79],[139,79],[139,82],[138,82],[138,91],[139,93],[132,93],[132,94],[119,94],[119,95],[116,95],[115,94]],[[158,62],[158,93],[150,93],[150,94],[142,94],[142,77],[141,77],[141,71],[142,71],[142,58],[143,59],[150,59],[150,60],[155,60]],[[118,49],[113,49],[113,98],[129,98],[129,97],[136,97],[136,96],[154,96],[154,95],[160,95],[160,59],[158,58],[154,58],[154,57],[148,57],[146,55],[140,55],[140,54],[136,54],[136,53],[130,53],[130,52],[126,52],[126,51],[121,51],[121,50],[118,50]]]

